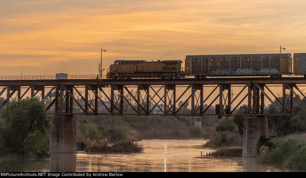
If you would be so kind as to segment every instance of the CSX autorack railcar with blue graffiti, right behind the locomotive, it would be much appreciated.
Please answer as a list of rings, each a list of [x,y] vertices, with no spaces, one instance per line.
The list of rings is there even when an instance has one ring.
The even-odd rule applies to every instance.
[[[289,53],[187,55],[185,74],[195,78],[269,75],[281,77],[282,74],[293,74],[292,57]]]

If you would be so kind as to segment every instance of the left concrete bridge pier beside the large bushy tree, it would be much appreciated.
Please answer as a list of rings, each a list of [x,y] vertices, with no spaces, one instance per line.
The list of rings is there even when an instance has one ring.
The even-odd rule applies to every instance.
[[[50,134],[49,153],[77,152],[76,117],[54,116]]]

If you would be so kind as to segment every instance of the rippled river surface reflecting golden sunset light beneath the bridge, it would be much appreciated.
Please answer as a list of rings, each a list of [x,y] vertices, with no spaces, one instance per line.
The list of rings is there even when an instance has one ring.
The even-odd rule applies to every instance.
[[[49,159],[14,159],[0,172],[296,172],[257,158],[206,158],[203,139],[143,140],[141,153],[51,154]],[[201,157],[201,151],[205,156]]]

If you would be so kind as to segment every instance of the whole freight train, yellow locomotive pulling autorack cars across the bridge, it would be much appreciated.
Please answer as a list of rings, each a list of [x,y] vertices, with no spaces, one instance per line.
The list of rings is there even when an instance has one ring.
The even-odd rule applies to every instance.
[[[116,60],[110,65],[107,78],[184,78],[194,76],[270,76],[306,77],[306,53],[291,54],[225,54],[187,55],[185,71],[181,60],[125,61]]]

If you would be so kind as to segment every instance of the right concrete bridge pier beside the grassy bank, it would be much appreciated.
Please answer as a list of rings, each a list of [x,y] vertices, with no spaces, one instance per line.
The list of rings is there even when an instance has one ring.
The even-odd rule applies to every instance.
[[[257,157],[261,135],[269,137],[268,119],[266,117],[245,117],[242,157]]]

